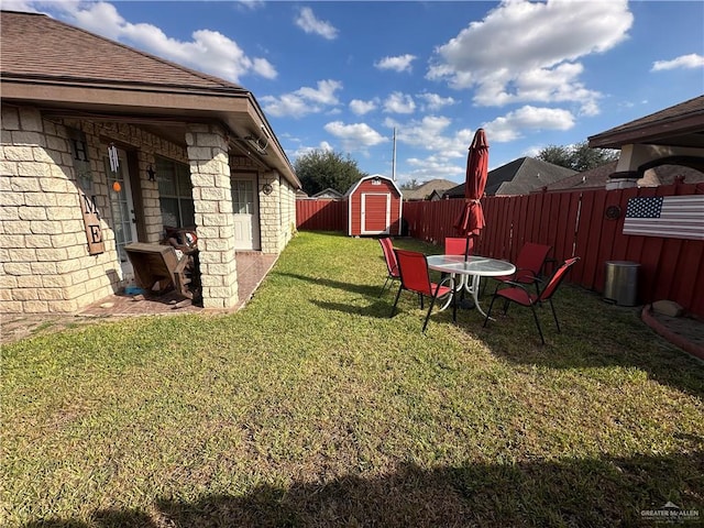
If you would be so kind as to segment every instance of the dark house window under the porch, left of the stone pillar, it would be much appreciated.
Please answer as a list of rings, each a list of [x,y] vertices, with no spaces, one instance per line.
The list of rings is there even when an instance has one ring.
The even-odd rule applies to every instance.
[[[174,228],[196,226],[190,167],[184,163],[157,156],[156,180],[164,226]]]

